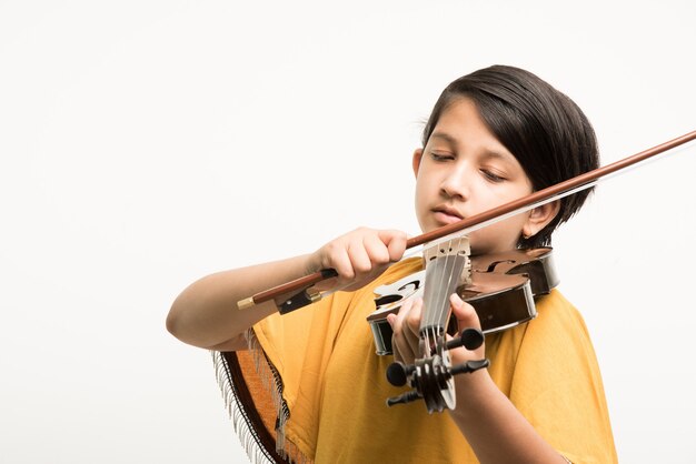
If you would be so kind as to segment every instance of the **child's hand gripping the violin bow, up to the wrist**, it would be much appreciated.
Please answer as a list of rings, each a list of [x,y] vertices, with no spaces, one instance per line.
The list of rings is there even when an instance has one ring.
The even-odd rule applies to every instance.
[[[317,290],[357,290],[404,256],[406,240],[401,231],[359,228],[310,254],[307,271],[335,269],[338,273],[338,278],[317,283]]]

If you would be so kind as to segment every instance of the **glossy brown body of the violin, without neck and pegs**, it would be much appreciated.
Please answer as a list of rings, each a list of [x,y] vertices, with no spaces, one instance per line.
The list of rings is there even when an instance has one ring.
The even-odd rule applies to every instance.
[[[550,248],[511,250],[471,256],[470,261],[470,281],[460,285],[457,293],[476,310],[484,334],[534,319],[537,314],[534,299],[558,284]],[[367,321],[377,354],[392,354],[392,331],[387,315],[397,313],[405,301],[422,296],[425,286],[424,270],[375,290],[377,309]],[[448,332],[457,332],[456,321],[450,320]]]

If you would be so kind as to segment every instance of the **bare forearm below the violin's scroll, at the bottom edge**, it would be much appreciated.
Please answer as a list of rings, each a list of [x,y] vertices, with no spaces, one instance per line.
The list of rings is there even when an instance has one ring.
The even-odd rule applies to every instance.
[[[483,463],[567,463],[496,386],[487,371],[457,379],[455,423]]]

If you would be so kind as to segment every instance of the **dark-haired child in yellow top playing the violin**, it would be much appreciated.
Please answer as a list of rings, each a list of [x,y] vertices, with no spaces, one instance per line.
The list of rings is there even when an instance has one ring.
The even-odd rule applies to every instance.
[[[489,210],[598,165],[594,131],[577,105],[536,75],[496,65],[449,84],[415,151],[416,214],[424,231]],[[469,235],[471,254],[550,244],[551,232],[587,192]],[[317,463],[616,462],[595,353],[577,311],[558,293],[537,299],[538,316],[450,351],[453,364],[490,360],[455,376],[457,405],[428,414],[420,402],[386,407],[404,392],[385,379],[396,359],[418,355],[422,301],[390,315],[395,356],[377,356],[366,316],[374,290],[421,269],[400,261],[406,234],[358,229],[311,254],[209,275],[175,301],[167,326],[212,351],[262,350],[289,411],[279,432],[296,460]],[[394,265],[390,265],[396,263]],[[346,291],[287,315],[272,301],[237,302],[321,269]],[[386,271],[386,272],[385,272]],[[326,286],[327,283],[324,283]],[[459,329],[480,326],[456,294]],[[249,339],[249,340],[248,340]]]

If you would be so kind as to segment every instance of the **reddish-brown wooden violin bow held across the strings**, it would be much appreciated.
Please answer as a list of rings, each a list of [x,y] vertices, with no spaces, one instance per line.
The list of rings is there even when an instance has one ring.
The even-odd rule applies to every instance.
[[[688,132],[682,137],[660,143],[632,157],[597,168],[584,174],[559,182],[555,185],[534,192],[527,196],[510,201],[500,206],[493,208],[483,213],[475,214],[461,221],[444,225],[430,232],[408,239],[406,249],[411,250],[428,243],[435,245],[453,239],[455,235],[463,235],[485,226],[495,224],[516,214],[534,210],[546,203],[560,200],[561,198],[571,195],[576,192],[589,189],[600,180],[609,178],[612,174],[618,174],[627,168],[636,167],[643,161],[647,161],[653,157],[684,145],[696,139],[696,131]],[[410,253],[409,255],[415,254]],[[406,256],[405,256],[406,258]],[[338,273],[334,269],[324,269],[304,278],[284,283],[269,290],[259,292],[252,296],[241,300],[237,303],[240,310],[253,307],[257,304],[275,300],[278,311],[281,314],[289,313],[299,307],[306,306],[320,300],[322,296],[334,291],[319,292],[312,291],[311,286],[324,280],[335,278]],[[286,297],[287,296],[287,297]],[[280,300],[280,302],[278,302]]]

